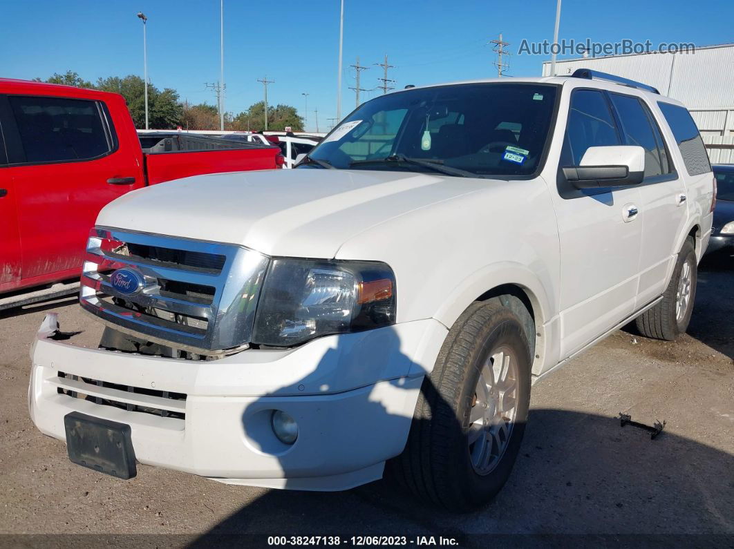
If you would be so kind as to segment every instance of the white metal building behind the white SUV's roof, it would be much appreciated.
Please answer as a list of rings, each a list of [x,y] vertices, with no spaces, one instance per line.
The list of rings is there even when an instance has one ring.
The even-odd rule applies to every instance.
[[[712,163],[734,163],[734,44],[695,51],[581,57],[556,61],[557,75],[600,70],[655,86],[685,104],[698,125]],[[543,63],[551,75],[551,62]]]

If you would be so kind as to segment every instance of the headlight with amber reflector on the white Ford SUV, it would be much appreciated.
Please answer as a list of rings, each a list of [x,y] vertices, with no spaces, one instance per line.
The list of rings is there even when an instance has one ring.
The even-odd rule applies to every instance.
[[[395,303],[395,276],[384,263],[273,259],[252,342],[291,347],[387,326],[395,323]]]

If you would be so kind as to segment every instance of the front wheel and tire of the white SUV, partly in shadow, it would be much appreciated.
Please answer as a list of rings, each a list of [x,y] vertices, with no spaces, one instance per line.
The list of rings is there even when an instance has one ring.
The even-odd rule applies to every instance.
[[[496,364],[490,371],[492,358]],[[504,380],[501,369],[507,372]],[[390,460],[388,474],[418,498],[447,509],[468,511],[487,504],[508,479],[520,450],[530,402],[530,369],[523,320],[499,298],[473,303],[454,323],[431,375],[424,379],[406,447]],[[498,372],[504,392],[502,383],[494,382]],[[484,386],[479,381],[490,377],[492,389],[479,394]],[[513,402],[514,410],[509,410]],[[505,412],[494,413],[497,408]],[[479,414],[484,417],[476,418]],[[483,423],[490,416],[493,422]],[[496,446],[487,446],[487,434],[494,435]],[[476,438],[471,445],[470,437]],[[504,451],[496,451],[498,441],[504,443]],[[477,444],[490,452],[482,454]],[[484,457],[492,463],[482,468]]]

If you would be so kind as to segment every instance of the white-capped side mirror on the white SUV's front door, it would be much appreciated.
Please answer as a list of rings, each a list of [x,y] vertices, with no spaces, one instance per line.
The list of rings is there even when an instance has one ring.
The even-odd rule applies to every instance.
[[[644,179],[644,149],[637,145],[589,147],[578,166],[563,168],[575,188],[639,185]]]

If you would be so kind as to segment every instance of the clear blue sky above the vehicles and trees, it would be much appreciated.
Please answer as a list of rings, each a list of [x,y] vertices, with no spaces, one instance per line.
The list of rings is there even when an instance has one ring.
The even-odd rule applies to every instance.
[[[518,55],[523,40],[553,39],[556,0],[344,0],[342,108],[355,107],[354,65],[361,100],[376,89],[388,55],[388,78],[407,84],[493,78],[499,33],[511,76],[539,76],[545,55]],[[189,103],[216,104],[205,83],[219,80],[219,0],[0,0],[0,76],[48,78],[73,70],[82,78],[143,73],[141,11],[148,16],[148,78]],[[308,130],[336,117],[339,0],[224,0],[225,109],[263,99],[305,111]],[[563,0],[559,38],[598,43],[623,39],[654,45],[734,42],[733,0]],[[578,55],[561,55],[578,57]]]

